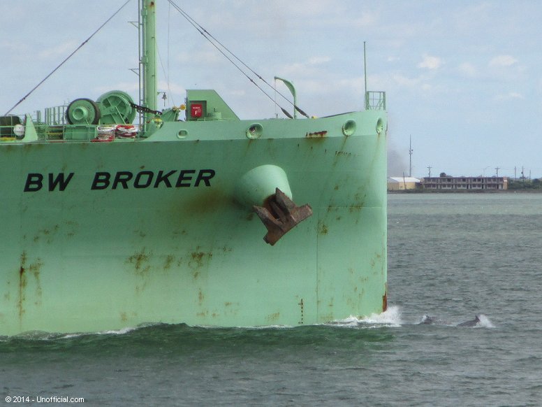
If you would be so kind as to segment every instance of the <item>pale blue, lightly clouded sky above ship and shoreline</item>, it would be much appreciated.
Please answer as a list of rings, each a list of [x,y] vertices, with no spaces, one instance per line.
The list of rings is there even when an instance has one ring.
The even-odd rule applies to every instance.
[[[0,1],[0,114],[125,1]],[[408,176],[411,158],[418,178],[519,178],[522,169],[542,177],[542,1],[175,3],[270,85],[274,76],[291,80],[309,115],[363,109],[365,42],[367,90],[386,92],[388,176]],[[166,106],[183,103],[186,89],[214,89],[242,119],[277,114],[268,85],[261,87],[271,98],[167,0],[156,7]],[[137,0],[130,0],[12,113],[96,100],[110,90],[137,101],[138,77],[130,69],[138,66],[138,34],[129,23],[137,19]],[[277,89],[288,94],[284,85]]]

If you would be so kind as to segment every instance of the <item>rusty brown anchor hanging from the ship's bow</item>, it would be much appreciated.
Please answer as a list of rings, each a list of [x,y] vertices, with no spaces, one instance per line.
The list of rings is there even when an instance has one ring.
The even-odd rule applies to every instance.
[[[308,204],[295,205],[279,188],[266,203],[268,208],[256,205],[253,208],[268,229],[263,240],[270,245],[277,243],[279,238],[312,215],[312,208]]]

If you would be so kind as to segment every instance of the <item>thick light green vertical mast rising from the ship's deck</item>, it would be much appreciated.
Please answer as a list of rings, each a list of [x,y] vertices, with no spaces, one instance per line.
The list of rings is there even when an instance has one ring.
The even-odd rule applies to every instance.
[[[141,0],[143,106],[156,110],[158,83],[156,80],[156,1]],[[145,113],[145,127],[154,114]]]

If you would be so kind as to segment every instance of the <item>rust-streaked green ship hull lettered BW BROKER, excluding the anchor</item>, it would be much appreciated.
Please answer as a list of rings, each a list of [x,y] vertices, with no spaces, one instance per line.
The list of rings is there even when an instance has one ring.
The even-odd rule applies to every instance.
[[[171,120],[94,143],[27,117],[0,142],[0,335],[381,313],[386,125],[384,110]],[[271,245],[254,206],[276,188],[312,215]]]

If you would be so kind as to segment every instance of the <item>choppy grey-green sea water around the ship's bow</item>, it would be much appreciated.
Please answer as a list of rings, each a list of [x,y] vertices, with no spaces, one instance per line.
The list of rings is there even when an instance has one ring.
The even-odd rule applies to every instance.
[[[0,405],[539,406],[541,230],[542,194],[392,194],[386,313],[0,337]]]

